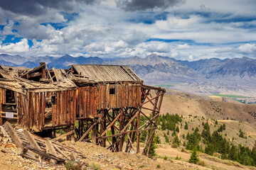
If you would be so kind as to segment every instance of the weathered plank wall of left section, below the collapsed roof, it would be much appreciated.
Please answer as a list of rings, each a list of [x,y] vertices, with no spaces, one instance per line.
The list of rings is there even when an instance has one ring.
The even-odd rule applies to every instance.
[[[46,97],[55,96],[52,112],[52,126],[75,123],[76,91],[28,92],[18,98],[21,125],[28,130],[41,130],[45,125]],[[21,117],[21,116],[20,116]]]

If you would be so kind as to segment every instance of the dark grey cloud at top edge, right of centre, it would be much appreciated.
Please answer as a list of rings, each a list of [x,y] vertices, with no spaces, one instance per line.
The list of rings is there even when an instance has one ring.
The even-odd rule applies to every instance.
[[[116,0],[117,7],[124,11],[145,11],[149,9],[164,9],[180,4],[181,0]]]

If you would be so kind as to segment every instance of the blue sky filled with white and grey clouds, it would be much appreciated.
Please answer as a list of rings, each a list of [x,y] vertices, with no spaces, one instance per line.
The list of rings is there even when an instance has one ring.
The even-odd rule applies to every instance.
[[[1,1],[0,53],[256,58],[255,8],[255,0]]]

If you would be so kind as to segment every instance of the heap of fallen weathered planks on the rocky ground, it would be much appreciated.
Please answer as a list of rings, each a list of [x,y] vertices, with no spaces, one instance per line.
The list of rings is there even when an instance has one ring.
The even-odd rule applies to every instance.
[[[18,132],[14,130],[9,122],[4,123],[4,130],[4,134],[7,133],[15,145],[22,148],[20,155],[27,159],[47,163],[50,163],[50,160],[54,160],[57,163],[61,163],[65,162],[66,159],[76,161],[78,158],[84,157],[81,153],[55,144],[51,140],[33,137],[31,132],[27,130]]]

